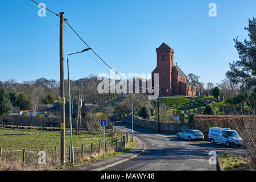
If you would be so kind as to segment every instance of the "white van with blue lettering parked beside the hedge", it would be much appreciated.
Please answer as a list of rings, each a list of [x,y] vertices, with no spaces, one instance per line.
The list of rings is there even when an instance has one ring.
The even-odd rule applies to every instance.
[[[225,146],[241,146],[243,143],[242,138],[238,135],[236,130],[230,130],[228,128],[210,127],[208,139],[210,143],[223,143]]]

